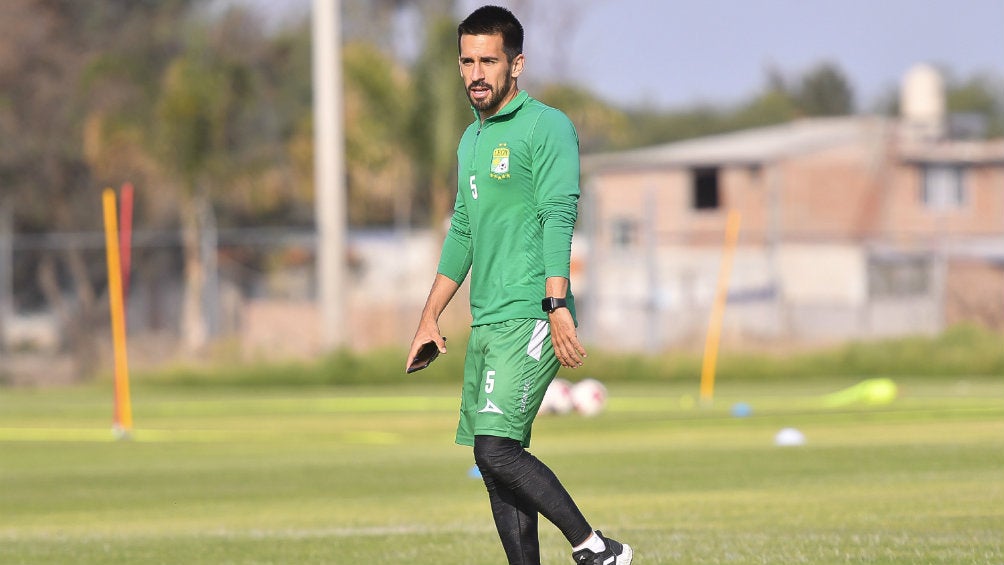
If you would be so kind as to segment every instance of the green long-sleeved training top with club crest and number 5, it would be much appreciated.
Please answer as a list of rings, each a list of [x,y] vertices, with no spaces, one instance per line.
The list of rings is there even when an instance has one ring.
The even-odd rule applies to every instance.
[[[578,135],[571,120],[520,91],[457,149],[457,201],[439,273],[471,274],[472,325],[547,319],[547,277],[568,278],[578,205]],[[568,308],[575,316],[571,284]]]

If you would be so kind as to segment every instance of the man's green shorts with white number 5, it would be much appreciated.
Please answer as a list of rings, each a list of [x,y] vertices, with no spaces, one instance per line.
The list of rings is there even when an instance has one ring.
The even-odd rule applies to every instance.
[[[560,363],[547,320],[474,326],[464,361],[457,443],[497,436],[530,446],[530,429]]]

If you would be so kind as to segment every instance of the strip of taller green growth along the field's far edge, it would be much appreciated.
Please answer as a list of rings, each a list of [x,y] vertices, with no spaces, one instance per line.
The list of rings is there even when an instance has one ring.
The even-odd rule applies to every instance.
[[[777,382],[845,379],[870,376],[949,377],[1004,375],[1000,335],[978,326],[960,325],[938,336],[913,336],[851,342],[832,348],[787,354],[730,352],[717,361],[719,382]],[[160,385],[290,386],[332,384],[403,384],[459,382],[464,370],[466,337],[451,339],[449,352],[429,368],[406,375],[407,352],[384,348],[369,352],[342,350],[316,362],[240,362],[218,366],[183,366],[140,372],[142,382]],[[592,376],[603,382],[697,382],[699,353],[658,355],[614,353],[587,347],[585,364],[561,369],[559,376],[577,380]]]

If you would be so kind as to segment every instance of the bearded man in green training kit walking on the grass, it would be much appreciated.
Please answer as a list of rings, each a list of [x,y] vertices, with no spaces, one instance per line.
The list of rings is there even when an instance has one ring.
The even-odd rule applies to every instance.
[[[446,352],[439,317],[470,272],[473,322],[456,441],[474,448],[509,563],[540,563],[542,514],[567,538],[575,563],[629,565],[631,547],[594,531],[525,449],[558,366],[585,357],[568,284],[578,138],[563,113],[517,86],[523,28],[512,13],[479,8],[457,35],[476,119],[457,151],[454,214],[408,364],[430,341]]]

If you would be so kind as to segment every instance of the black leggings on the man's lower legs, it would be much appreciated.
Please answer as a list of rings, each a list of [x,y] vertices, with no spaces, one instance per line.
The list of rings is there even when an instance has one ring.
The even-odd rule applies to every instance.
[[[519,442],[494,436],[474,437],[474,461],[481,470],[510,565],[537,565],[537,514],[557,526],[576,546],[592,532],[554,473]]]

